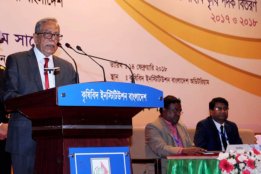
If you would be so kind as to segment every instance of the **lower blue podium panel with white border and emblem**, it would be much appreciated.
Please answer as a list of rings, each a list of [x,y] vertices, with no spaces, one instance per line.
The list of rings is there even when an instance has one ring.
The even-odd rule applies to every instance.
[[[69,148],[71,174],[131,174],[129,147]]]

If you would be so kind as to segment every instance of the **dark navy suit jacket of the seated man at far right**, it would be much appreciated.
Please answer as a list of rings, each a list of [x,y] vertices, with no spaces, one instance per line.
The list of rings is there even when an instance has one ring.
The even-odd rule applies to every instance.
[[[235,123],[226,120],[224,128],[229,144],[243,144]],[[218,129],[212,117],[209,116],[197,123],[194,144],[207,151],[222,151]]]

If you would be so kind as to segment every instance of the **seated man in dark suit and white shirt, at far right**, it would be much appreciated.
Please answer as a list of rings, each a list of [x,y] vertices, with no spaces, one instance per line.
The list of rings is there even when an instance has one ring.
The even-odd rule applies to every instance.
[[[228,144],[243,144],[238,127],[228,117],[228,102],[217,97],[209,102],[210,116],[197,123],[194,144],[207,151],[225,151]]]

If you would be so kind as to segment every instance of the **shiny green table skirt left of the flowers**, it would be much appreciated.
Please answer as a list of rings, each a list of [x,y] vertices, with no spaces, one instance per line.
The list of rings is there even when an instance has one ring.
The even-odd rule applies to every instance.
[[[219,160],[216,159],[182,159],[167,160],[167,174],[220,174]]]

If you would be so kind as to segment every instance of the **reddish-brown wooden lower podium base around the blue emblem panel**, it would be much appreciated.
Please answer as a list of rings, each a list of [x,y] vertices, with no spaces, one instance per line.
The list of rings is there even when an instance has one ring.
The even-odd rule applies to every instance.
[[[34,173],[70,174],[69,147],[116,146],[129,146],[128,138],[39,139],[37,140]]]

